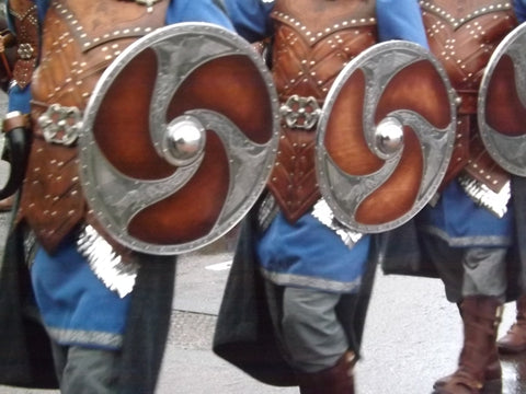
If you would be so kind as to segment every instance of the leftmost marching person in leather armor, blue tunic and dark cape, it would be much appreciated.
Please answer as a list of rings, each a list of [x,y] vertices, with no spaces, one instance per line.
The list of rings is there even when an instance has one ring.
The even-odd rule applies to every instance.
[[[0,382],[152,393],[175,257],[130,251],[100,225],[79,176],[82,114],[103,71],[140,37],[184,21],[231,25],[211,0],[9,0],[8,12],[18,59],[3,131],[31,151],[0,276]],[[129,105],[107,103],[115,115]]]

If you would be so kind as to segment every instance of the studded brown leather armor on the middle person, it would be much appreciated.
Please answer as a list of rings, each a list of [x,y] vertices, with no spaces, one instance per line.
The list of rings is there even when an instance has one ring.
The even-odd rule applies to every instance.
[[[343,67],[377,43],[375,1],[278,0],[273,76],[279,102],[288,109],[295,95],[309,99],[302,111],[321,107]],[[315,167],[316,124],[282,120],[277,159],[268,188],[291,222],[320,198]]]

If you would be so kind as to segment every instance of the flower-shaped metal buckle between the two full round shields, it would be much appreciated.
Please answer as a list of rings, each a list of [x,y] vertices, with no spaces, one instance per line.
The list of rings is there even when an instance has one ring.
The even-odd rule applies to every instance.
[[[279,114],[288,127],[310,130],[318,123],[321,109],[315,97],[294,94],[282,105]]]

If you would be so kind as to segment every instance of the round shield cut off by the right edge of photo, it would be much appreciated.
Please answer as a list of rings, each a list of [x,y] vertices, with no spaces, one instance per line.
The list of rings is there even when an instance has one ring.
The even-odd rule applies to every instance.
[[[482,77],[478,123],[482,141],[512,174],[526,176],[526,24],[493,51]]]

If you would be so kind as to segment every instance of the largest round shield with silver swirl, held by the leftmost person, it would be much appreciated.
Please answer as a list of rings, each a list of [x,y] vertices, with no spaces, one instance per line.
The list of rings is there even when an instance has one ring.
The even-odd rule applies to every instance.
[[[125,246],[190,252],[253,206],[277,140],[272,77],[250,44],[170,25],[124,50],[93,92],[79,142],[87,200]]]

